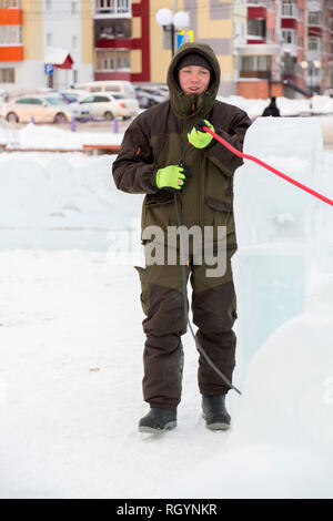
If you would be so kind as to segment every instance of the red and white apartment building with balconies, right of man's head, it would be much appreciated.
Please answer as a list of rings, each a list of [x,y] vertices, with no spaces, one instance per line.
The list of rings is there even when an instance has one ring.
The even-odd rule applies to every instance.
[[[305,94],[305,0],[246,2],[246,41],[235,43],[236,91],[245,98]]]

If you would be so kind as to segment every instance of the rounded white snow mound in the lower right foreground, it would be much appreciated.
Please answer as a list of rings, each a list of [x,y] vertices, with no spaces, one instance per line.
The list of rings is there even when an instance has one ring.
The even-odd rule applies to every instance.
[[[321,289],[256,353],[224,449],[182,474],[172,496],[333,497],[333,274]]]

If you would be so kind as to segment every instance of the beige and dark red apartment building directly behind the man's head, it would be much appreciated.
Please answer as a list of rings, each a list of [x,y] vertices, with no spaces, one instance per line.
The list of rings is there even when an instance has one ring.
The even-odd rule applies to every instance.
[[[233,21],[230,0],[94,0],[94,79],[165,82],[172,31],[157,12],[186,11],[196,42],[214,49],[222,70],[221,92],[233,91]],[[176,48],[176,31],[174,45]]]

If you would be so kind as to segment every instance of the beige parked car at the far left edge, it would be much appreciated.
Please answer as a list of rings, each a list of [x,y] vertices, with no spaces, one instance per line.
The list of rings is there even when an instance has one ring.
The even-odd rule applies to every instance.
[[[0,115],[11,123],[29,123],[31,118],[43,123],[65,123],[72,118],[78,120],[89,118],[89,109],[79,103],[68,104],[59,95],[20,96],[9,103],[3,103]]]

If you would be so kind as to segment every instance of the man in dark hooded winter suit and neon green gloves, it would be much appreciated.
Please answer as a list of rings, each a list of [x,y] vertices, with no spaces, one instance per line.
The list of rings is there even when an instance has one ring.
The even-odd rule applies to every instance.
[[[173,191],[176,191],[182,225],[226,227],[226,269],[222,276],[208,277],[206,265],[193,262],[189,252],[185,270],[191,275],[193,321],[201,346],[232,380],[235,365],[236,298],[231,257],[236,251],[233,218],[233,174],[242,160],[216,140],[193,126],[201,120],[241,150],[251,122],[245,112],[215,101],[220,67],[206,44],[185,43],[174,55],[168,71],[170,100],[140,114],[127,130],[113,177],[119,190],[145,193],[142,207],[143,244],[147,226],[176,226]],[[184,163],[179,165],[188,143]],[[188,175],[191,173],[191,176]],[[167,245],[167,243],[165,243]],[[161,432],[176,426],[181,399],[183,351],[181,335],[186,331],[182,269],[175,265],[149,264],[137,267],[141,280],[141,302],[147,318],[143,362],[143,396],[149,413],[140,420],[141,432]],[[225,395],[230,390],[200,355],[199,389],[206,427],[226,429],[230,415]]]

